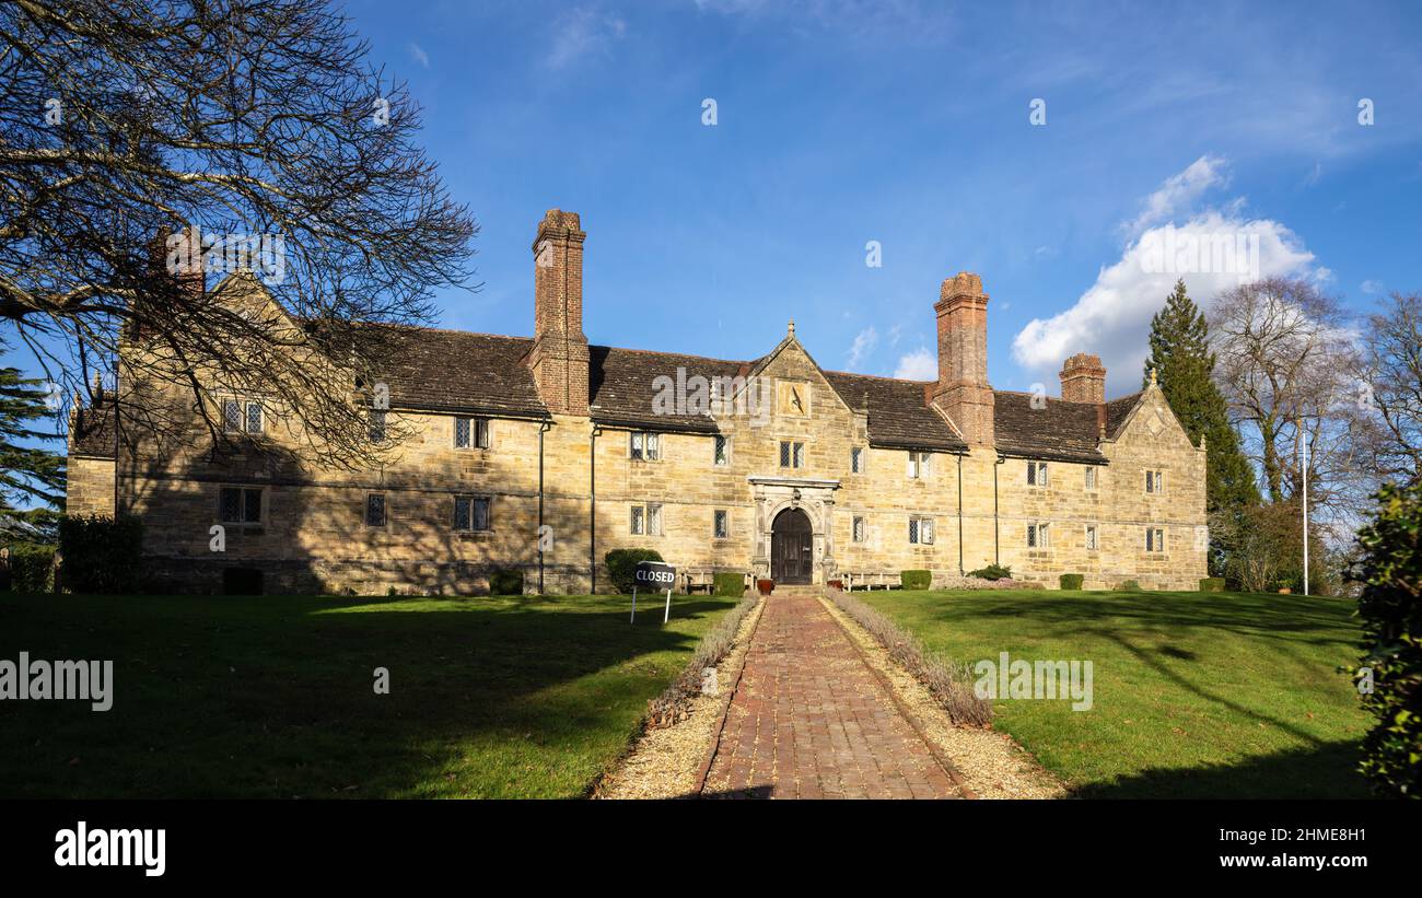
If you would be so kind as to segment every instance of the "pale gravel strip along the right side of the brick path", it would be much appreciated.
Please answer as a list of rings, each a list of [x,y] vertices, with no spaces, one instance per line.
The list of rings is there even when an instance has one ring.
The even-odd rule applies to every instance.
[[[896,698],[917,718],[924,737],[940,752],[967,790],[978,799],[1062,799],[1066,787],[1008,736],[988,727],[954,726],[943,703],[927,686],[889,658],[869,631],[829,598],[820,597],[830,617],[859,647],[865,661],[892,685]]]

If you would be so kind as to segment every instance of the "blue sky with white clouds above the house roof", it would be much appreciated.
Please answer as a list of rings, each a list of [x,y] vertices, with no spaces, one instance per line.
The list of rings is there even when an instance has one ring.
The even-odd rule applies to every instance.
[[[971,270],[995,386],[1055,394],[1094,351],[1118,394],[1175,280],[1130,259],[1152,227],[1263,234],[1266,274],[1359,310],[1422,288],[1422,7],[1260,6],[347,10],[483,229],[485,288],[442,297],[447,327],[530,332],[529,243],[562,207],[594,342],[754,358],[793,317],[826,368],[931,377],[939,283]]]

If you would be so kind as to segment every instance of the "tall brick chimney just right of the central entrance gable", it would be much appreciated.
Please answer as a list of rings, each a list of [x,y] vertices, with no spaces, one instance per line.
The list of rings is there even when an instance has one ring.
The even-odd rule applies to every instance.
[[[933,399],[974,446],[993,445],[993,388],[987,382],[987,294],[983,278],[958,271],[939,301],[939,382]]]

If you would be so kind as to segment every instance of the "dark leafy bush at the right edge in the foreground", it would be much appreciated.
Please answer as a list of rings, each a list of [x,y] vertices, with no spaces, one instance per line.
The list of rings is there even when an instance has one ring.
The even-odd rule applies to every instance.
[[[1378,794],[1422,799],[1422,483],[1386,485],[1376,519],[1358,533],[1355,577],[1365,654],[1354,672],[1378,719],[1359,770]],[[1362,686],[1371,671],[1372,691]]]

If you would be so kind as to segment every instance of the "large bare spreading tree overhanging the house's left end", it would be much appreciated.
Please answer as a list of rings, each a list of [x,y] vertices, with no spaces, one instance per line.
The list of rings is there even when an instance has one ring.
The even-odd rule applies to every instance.
[[[260,384],[316,459],[368,462],[370,325],[476,288],[478,229],[365,58],[323,0],[0,3],[0,325],[65,395],[100,401],[139,347],[124,378],[181,385],[215,446],[213,391]],[[243,267],[283,314],[203,288]]]

